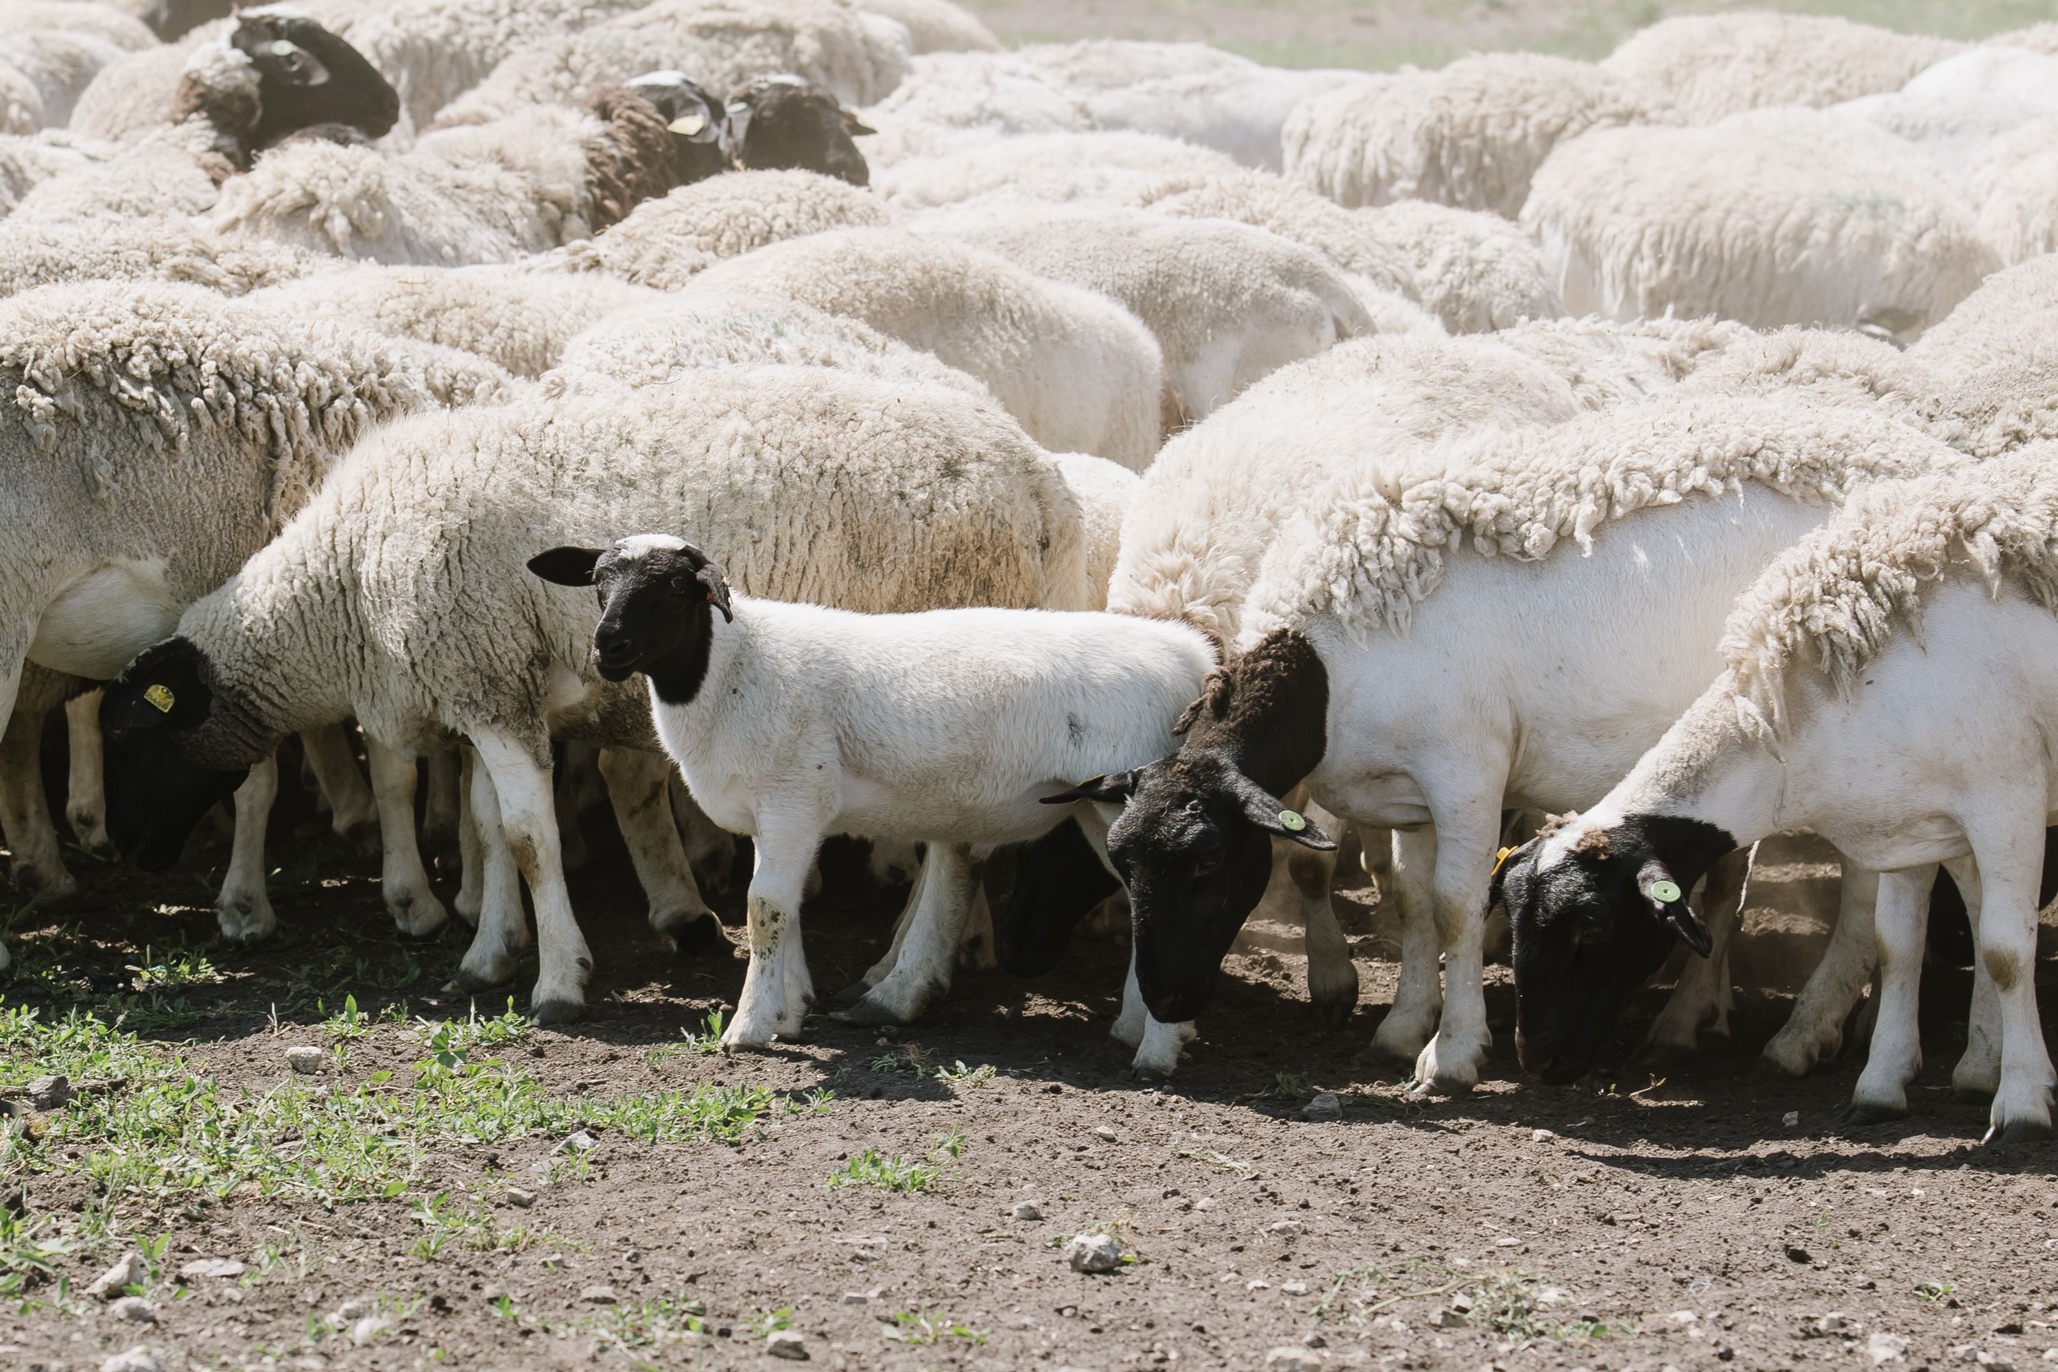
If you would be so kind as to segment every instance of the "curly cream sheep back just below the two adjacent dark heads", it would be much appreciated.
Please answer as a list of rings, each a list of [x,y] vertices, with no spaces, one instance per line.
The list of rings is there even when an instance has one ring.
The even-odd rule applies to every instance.
[[[737,171],[642,202],[591,243],[570,245],[562,265],[679,290],[724,257],[768,243],[891,222],[893,212],[862,185],[813,171]]]

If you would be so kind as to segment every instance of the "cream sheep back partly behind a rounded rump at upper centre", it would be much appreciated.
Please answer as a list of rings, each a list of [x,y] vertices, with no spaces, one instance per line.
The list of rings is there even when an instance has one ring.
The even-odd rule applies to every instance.
[[[1183,420],[1338,339],[1373,333],[1350,284],[1313,249],[1222,220],[1060,206],[1013,224],[936,222],[1037,276],[1097,290],[1157,335]]]

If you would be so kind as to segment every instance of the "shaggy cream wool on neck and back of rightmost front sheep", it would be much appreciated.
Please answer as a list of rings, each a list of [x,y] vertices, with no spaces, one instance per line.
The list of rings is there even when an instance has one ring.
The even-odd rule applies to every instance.
[[[1947,576],[1978,576],[1994,597],[2007,582],[2058,609],[2058,448],[1854,494],[1737,599],[1723,631],[1733,691],[1774,726],[1795,664],[1848,699],[1897,623],[1922,642],[1922,597]]]

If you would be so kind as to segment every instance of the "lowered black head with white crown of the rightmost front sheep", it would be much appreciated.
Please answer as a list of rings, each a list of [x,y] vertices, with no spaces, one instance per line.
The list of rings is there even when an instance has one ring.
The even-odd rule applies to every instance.
[[[1572,823],[1509,854],[1494,893],[1515,924],[1515,1051],[1546,1082],[1593,1068],[1622,1006],[1683,938],[1708,956],[1686,893],[1737,841],[1698,819]]]

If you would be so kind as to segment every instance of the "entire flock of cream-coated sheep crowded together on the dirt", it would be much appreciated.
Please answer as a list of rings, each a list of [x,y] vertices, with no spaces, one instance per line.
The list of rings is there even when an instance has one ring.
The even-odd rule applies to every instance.
[[[1906,1111],[1941,864],[1953,1082],[2050,1131],[2058,25],[1364,74],[1002,51],[949,0],[126,6],[0,0],[29,889],[74,889],[64,708],[80,841],[158,868],[233,794],[220,924],[263,938],[298,734],[401,930],[457,850],[459,985],[512,977],[527,884],[539,1020],[605,792],[681,950],[755,843],[731,1047],[799,1033],[852,833],[914,889],[842,1014],[1126,899],[1115,1037],[1171,1072],[1274,880],[1350,1014],[1356,827],[1404,922],[1373,1045],[1463,1090],[1492,909],[1525,1068],[1585,1072],[1679,942],[1690,1053],[1751,845],[1809,827],[1842,915],[1766,1055],[1871,981],[1852,1119]]]

